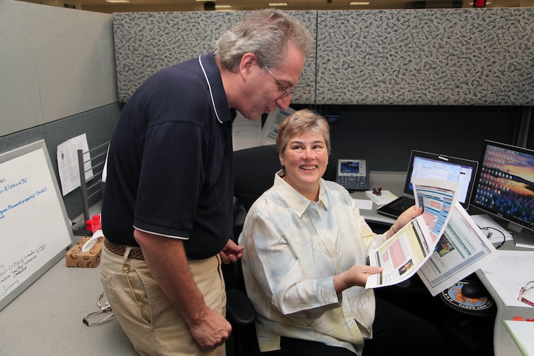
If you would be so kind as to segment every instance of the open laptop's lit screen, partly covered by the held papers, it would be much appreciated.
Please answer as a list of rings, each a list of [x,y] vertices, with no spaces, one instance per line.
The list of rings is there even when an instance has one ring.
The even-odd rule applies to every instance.
[[[478,165],[479,163],[473,160],[411,151],[404,192],[414,195],[414,187],[411,184],[411,179],[414,177],[456,181],[459,183],[458,201],[467,209]]]

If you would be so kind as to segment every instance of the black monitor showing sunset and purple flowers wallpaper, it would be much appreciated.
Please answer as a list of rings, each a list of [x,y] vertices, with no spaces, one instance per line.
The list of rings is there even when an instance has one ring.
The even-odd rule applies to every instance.
[[[534,230],[534,151],[484,141],[471,204]]]

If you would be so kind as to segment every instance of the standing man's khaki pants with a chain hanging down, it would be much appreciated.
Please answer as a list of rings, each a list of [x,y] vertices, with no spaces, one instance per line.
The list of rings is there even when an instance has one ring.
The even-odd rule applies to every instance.
[[[128,250],[127,250],[128,253]],[[154,281],[147,264],[141,259],[128,259],[105,247],[101,258],[101,281],[120,326],[140,355],[209,355],[225,356],[225,345],[216,350],[201,348],[192,338],[181,314]],[[123,263],[129,262],[129,278],[136,298],[148,322],[142,318],[133,299]],[[193,279],[208,307],[226,314],[225,281],[217,256],[192,260]],[[168,276],[172,278],[173,276]]]

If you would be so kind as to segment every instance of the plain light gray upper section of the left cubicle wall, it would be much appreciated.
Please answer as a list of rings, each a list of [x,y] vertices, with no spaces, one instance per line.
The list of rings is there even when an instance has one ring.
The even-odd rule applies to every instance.
[[[117,101],[113,18],[0,0],[0,136]]]

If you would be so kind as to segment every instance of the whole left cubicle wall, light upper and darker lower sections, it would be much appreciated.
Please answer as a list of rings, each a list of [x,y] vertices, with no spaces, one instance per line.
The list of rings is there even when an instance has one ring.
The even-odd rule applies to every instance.
[[[58,144],[86,133],[110,140],[117,101],[110,14],[0,0],[0,153],[44,139],[57,170]],[[81,194],[67,194],[69,218]]]

